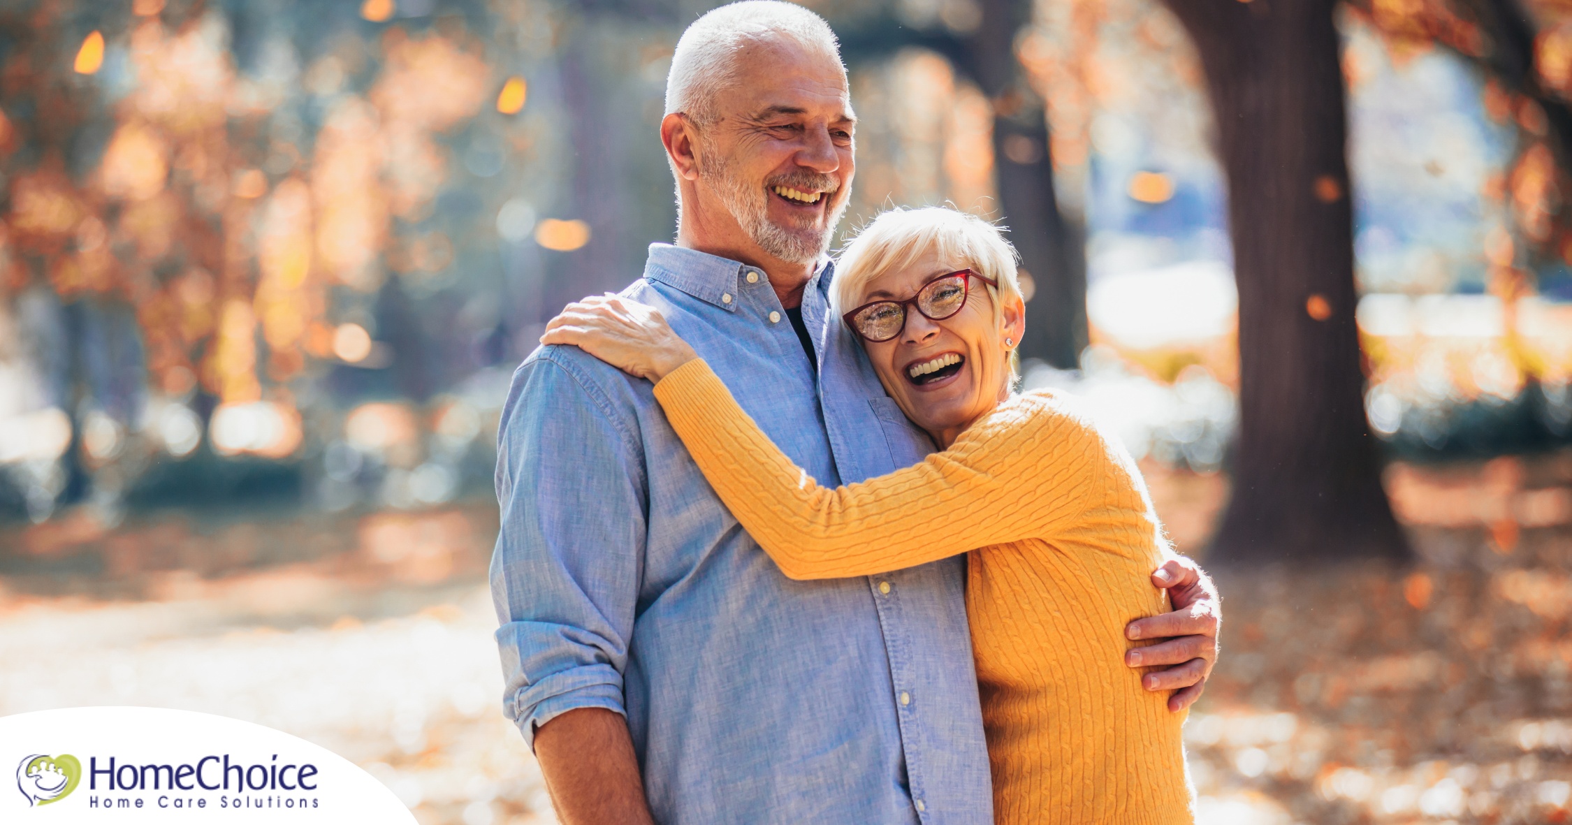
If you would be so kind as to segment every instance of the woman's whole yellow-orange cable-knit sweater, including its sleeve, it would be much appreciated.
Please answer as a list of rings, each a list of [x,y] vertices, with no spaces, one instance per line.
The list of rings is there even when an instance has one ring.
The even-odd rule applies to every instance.
[[[1193,822],[1184,715],[1124,665],[1138,644],[1124,625],[1168,610],[1149,578],[1165,561],[1162,526],[1130,456],[1063,396],[1012,398],[949,449],[836,489],[795,467],[703,360],[662,379],[656,398],[791,578],[976,550],[967,614],[997,822]]]

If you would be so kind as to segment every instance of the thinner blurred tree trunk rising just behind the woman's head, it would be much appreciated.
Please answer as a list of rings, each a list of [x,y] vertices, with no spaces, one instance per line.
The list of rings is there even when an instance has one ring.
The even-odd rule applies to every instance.
[[[1031,22],[1031,2],[982,0],[981,9],[967,42],[970,74],[994,101],[1000,212],[1036,286],[1020,354],[1072,369],[1086,346],[1085,231],[1060,211],[1047,112],[1016,58],[1016,33]]]

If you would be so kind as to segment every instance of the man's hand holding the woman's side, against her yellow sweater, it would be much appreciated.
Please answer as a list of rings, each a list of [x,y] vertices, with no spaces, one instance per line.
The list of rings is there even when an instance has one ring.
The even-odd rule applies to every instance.
[[[1152,585],[1168,591],[1173,613],[1135,619],[1124,629],[1132,640],[1155,640],[1157,644],[1126,651],[1124,663],[1132,668],[1170,665],[1148,673],[1141,687],[1151,691],[1173,690],[1168,710],[1179,712],[1195,704],[1206,690],[1206,677],[1217,663],[1217,627],[1223,621],[1217,585],[1195,561],[1179,556],[1152,574]]]

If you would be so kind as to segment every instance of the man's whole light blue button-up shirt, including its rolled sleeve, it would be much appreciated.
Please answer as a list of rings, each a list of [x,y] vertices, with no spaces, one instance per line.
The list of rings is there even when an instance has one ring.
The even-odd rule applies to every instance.
[[[624,295],[657,306],[792,460],[839,484],[932,443],[828,317],[830,277],[803,295],[817,371],[758,269],[656,244]],[[662,823],[992,823],[962,559],[786,578],[652,385],[575,347],[542,347],[514,376],[497,497],[505,709],[527,740],[577,707],[623,713]]]

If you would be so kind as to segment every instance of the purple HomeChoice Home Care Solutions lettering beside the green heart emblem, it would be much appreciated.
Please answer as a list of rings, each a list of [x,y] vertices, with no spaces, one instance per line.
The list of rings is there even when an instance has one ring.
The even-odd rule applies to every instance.
[[[79,765],[79,776],[80,770]],[[115,756],[101,764],[97,756],[90,756],[86,805],[88,808],[152,805],[165,809],[212,806],[307,811],[322,806],[322,800],[313,794],[318,789],[318,773],[321,773],[318,767],[310,762],[280,764],[277,753],[267,762],[244,764],[231,761],[230,754],[222,754],[203,756],[179,765],[118,762]],[[102,797],[94,794],[99,784]],[[214,795],[214,790],[219,794]]]

